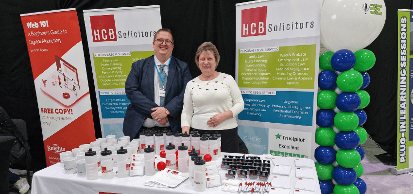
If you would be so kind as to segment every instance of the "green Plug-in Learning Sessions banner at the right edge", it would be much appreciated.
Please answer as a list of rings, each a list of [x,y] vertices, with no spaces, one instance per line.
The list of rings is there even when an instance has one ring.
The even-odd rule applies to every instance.
[[[397,167],[392,168],[395,175],[413,171],[413,10],[399,9],[397,15]]]

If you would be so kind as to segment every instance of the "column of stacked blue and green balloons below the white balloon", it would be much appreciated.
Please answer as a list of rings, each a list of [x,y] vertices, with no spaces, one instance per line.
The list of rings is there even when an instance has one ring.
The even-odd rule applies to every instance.
[[[370,82],[367,70],[376,57],[370,50],[341,49],[320,55],[314,157],[322,194],[364,194],[361,160],[367,132],[361,127],[370,102],[363,89]]]

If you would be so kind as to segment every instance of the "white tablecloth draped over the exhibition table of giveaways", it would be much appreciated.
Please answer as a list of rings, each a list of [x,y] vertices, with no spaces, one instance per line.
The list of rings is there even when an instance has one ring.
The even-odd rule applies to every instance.
[[[222,153],[222,156],[228,153]],[[231,154],[240,155],[240,154]],[[294,158],[289,157],[275,157],[286,159],[291,166],[291,189],[290,194],[294,194],[294,185],[297,181],[295,178],[295,165]],[[271,159],[266,159],[271,160]],[[310,159],[307,159],[310,160]],[[221,164],[221,159],[217,162],[217,166]],[[314,174],[315,194],[321,194],[320,185],[318,182],[317,172],[315,169],[314,162],[312,162],[312,170]],[[271,167],[273,167],[271,162]],[[218,167],[220,169],[220,167]],[[271,169],[272,170],[272,169]],[[158,172],[158,171],[157,171]],[[227,170],[219,170],[221,178],[225,178],[225,173]],[[268,182],[271,182],[274,175],[270,174]],[[33,175],[32,183],[32,194],[194,194],[194,193],[205,193],[205,194],[229,194],[228,192],[223,192],[221,187],[207,188],[204,192],[195,192],[189,179],[185,180],[175,188],[156,188],[150,186],[144,186],[144,182],[152,176],[143,177],[127,177],[118,178],[117,175],[111,179],[102,179],[102,173],[99,173],[99,178],[95,180],[87,180],[85,178],[79,178],[76,174],[67,175],[64,173],[64,168],[60,167],[60,163],[49,166],[43,170],[37,171]],[[241,180],[242,183],[245,181],[254,182],[257,180]],[[264,181],[262,181],[264,182]],[[267,182],[267,181],[265,181]]]

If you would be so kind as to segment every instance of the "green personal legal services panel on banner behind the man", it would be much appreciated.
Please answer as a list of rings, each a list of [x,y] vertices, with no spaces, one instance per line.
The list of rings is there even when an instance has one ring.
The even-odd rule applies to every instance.
[[[98,89],[125,88],[125,81],[131,71],[132,63],[147,58],[154,51],[132,51],[114,53],[93,53]],[[130,54],[129,54],[130,53]]]

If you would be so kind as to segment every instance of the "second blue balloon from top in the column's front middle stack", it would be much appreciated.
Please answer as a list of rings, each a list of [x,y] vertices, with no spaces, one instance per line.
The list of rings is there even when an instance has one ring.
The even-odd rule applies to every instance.
[[[355,92],[343,92],[336,98],[336,106],[340,111],[353,112],[361,105],[361,98]]]

